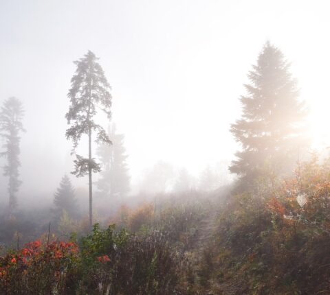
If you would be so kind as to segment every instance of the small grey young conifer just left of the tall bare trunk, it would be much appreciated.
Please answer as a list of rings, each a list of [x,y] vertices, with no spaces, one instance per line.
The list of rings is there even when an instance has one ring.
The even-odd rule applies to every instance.
[[[65,210],[70,216],[75,216],[77,213],[76,195],[74,187],[69,176],[63,176],[60,187],[54,193],[54,212],[60,216]]]

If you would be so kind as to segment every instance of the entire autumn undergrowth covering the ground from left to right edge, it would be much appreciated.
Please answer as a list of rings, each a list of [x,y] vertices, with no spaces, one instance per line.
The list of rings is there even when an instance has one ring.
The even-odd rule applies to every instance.
[[[67,241],[43,235],[0,258],[0,293],[329,294],[329,176],[330,160],[314,156],[254,192],[190,192],[157,210],[122,207],[118,228],[95,224]]]

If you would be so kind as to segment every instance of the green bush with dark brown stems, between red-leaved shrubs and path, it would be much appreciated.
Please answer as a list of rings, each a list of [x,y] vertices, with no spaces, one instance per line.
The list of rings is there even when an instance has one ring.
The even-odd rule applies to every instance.
[[[137,237],[96,224],[81,240],[81,259],[79,294],[96,288],[109,294],[173,294],[178,281],[177,258],[160,233]]]

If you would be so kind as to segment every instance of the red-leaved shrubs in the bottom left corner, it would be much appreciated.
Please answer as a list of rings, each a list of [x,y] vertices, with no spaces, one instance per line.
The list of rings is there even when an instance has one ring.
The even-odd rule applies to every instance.
[[[74,294],[76,244],[33,241],[0,257],[0,294]]]

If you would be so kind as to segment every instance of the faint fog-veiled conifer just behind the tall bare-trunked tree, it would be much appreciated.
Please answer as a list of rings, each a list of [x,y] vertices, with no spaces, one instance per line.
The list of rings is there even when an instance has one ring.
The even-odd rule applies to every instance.
[[[130,189],[129,169],[126,164],[124,134],[118,134],[115,125],[108,129],[112,145],[100,145],[98,155],[102,163],[98,189],[102,196],[126,196]]]

